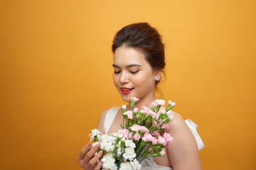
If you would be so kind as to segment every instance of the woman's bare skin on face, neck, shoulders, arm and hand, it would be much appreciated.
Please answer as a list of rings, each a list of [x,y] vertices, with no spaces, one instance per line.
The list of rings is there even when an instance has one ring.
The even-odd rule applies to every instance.
[[[153,70],[145,60],[144,54],[132,47],[122,45],[114,52],[114,74],[113,81],[122,99],[130,103],[132,96],[139,98],[134,107],[142,109],[142,106],[149,107],[149,103],[155,100],[154,77],[161,76],[161,69]],[[122,94],[120,87],[134,88],[130,94]],[[129,104],[127,105],[127,108]],[[164,108],[161,108],[164,109]],[[97,129],[104,133],[104,121],[109,109],[102,112]],[[112,125],[107,133],[117,132],[122,123],[122,111],[119,109]],[[154,162],[161,166],[169,166],[175,170],[201,169],[201,162],[198,154],[196,140],[181,116],[174,114],[174,120],[169,123],[167,131],[174,138],[171,147],[161,157],[154,157]],[[88,143],[80,152],[78,162],[83,169],[99,169],[102,162],[97,160],[101,154],[95,154],[97,148]]]

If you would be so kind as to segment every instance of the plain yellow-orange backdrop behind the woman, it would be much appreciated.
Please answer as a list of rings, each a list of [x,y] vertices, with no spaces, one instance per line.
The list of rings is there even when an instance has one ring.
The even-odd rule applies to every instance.
[[[198,124],[203,169],[255,169],[255,1],[1,1],[0,169],[80,169],[100,113],[124,104],[111,44],[149,22],[166,45],[160,84]]]

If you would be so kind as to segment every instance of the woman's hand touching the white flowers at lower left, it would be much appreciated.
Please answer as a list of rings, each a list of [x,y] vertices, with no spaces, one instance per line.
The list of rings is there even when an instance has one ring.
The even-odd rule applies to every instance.
[[[95,152],[100,149],[100,144],[92,147],[92,143],[89,142],[85,147],[82,148],[78,155],[78,162],[80,166],[85,170],[100,170],[102,167],[102,160],[97,162],[102,156],[103,152],[100,151],[95,155]]]

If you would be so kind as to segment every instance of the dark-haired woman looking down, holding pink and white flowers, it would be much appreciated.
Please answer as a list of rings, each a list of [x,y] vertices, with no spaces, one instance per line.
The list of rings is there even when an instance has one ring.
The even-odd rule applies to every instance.
[[[161,35],[148,23],[134,23],[125,26],[114,36],[112,51],[114,85],[122,99],[128,102],[127,108],[132,96],[139,98],[134,107],[139,109],[142,109],[142,106],[150,107],[149,103],[156,99],[154,89],[165,67]],[[174,142],[164,156],[144,159],[142,169],[201,169],[199,147],[195,139],[198,134],[193,132],[196,134],[194,137],[189,123],[185,123],[180,115],[175,113],[173,115],[174,119],[169,123],[168,132],[174,137]],[[117,132],[122,120],[121,108],[107,109],[100,115],[97,129],[102,133]],[[95,154],[99,148],[100,145],[92,147],[90,142],[82,148],[78,162],[83,169],[101,168],[102,161],[98,162],[98,160],[102,152]]]

